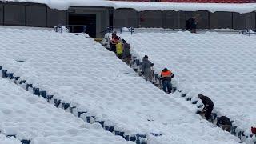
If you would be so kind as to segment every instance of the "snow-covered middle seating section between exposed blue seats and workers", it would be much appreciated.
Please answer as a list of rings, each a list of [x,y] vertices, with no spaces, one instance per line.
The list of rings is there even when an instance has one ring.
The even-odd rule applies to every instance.
[[[140,78],[114,53],[83,34],[0,29],[0,54],[2,69],[88,111],[87,115],[114,130],[148,135],[150,144],[239,142]],[[62,118],[54,120],[58,121]]]

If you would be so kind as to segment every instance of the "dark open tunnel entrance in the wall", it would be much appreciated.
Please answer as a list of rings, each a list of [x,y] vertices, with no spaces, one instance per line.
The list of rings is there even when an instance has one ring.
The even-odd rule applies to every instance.
[[[71,33],[82,33],[86,26],[86,33],[96,38],[96,14],[69,14],[69,25]]]

